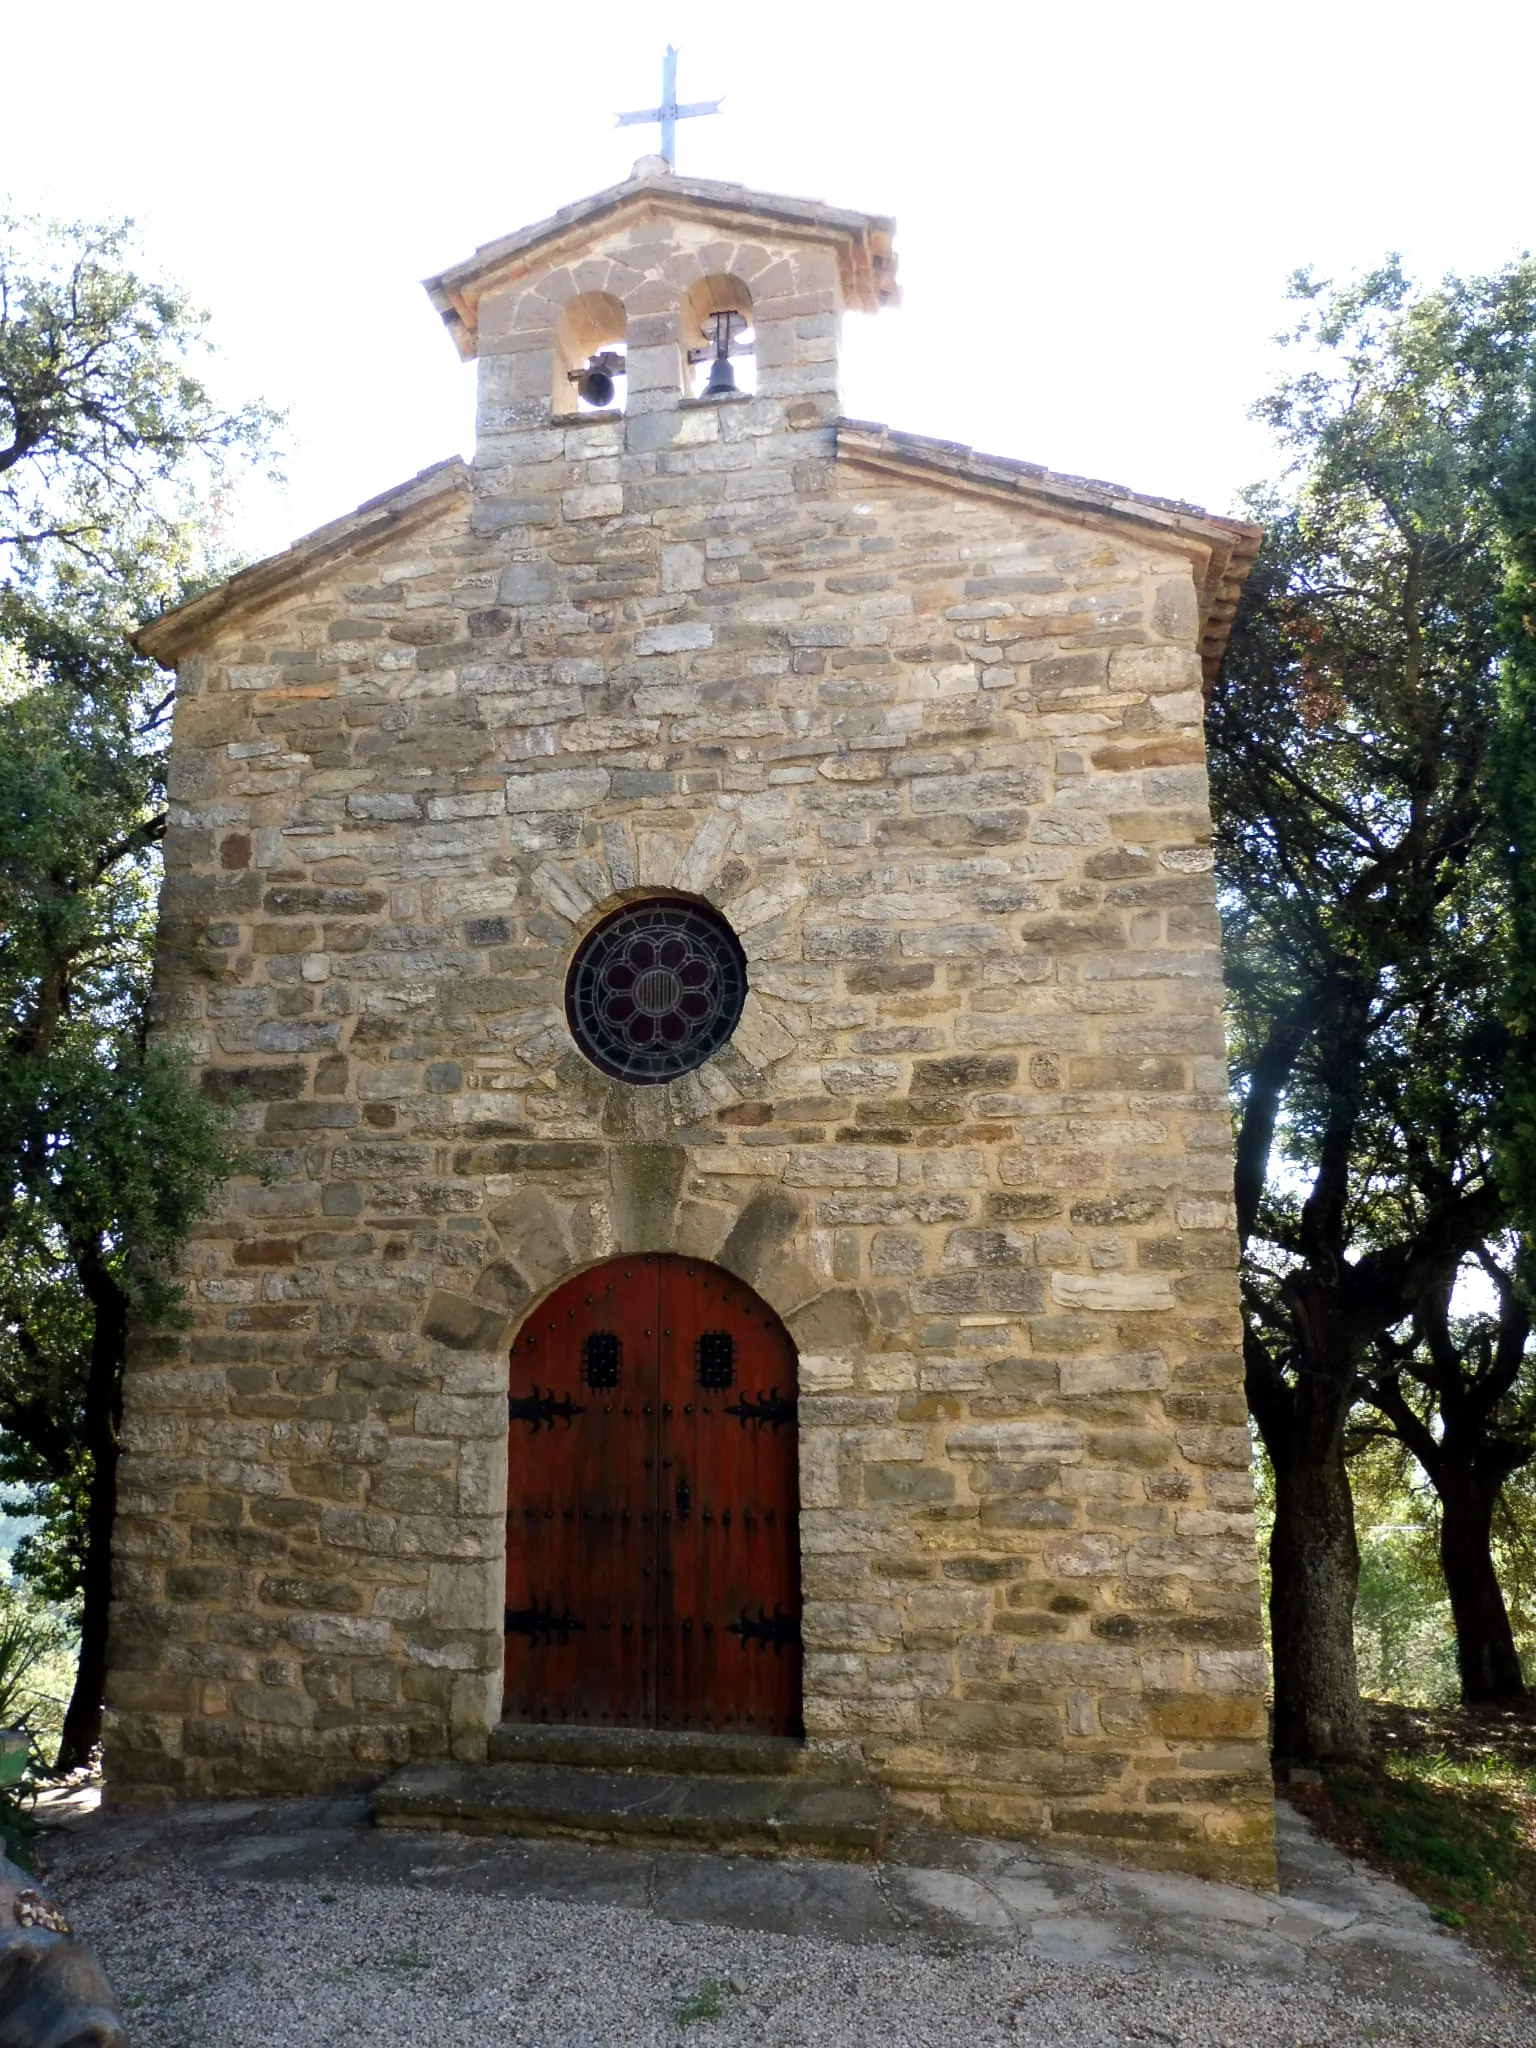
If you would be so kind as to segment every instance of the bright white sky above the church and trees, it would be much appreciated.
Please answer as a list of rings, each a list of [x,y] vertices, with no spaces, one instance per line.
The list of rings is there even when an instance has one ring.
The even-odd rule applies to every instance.
[[[229,532],[264,553],[469,451],[420,279],[655,147],[612,115],[668,39],[680,96],[727,100],[684,172],[897,217],[850,414],[1212,510],[1268,465],[1294,266],[1432,279],[1536,233],[1530,0],[12,4],[0,195],[133,215],[219,389],[287,408],[287,489]]]

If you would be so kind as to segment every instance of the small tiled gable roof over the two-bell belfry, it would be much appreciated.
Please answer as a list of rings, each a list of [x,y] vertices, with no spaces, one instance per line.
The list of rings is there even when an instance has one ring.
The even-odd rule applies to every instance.
[[[479,301],[487,291],[516,283],[535,268],[573,262],[616,221],[666,215],[702,221],[721,233],[772,233],[815,242],[836,252],[844,303],[864,313],[899,301],[895,281],[895,221],[881,213],[848,213],[819,199],[784,199],[752,193],[717,178],[680,178],[664,158],[643,156],[623,184],[578,199],[547,221],[485,242],[473,256],[424,281],[432,305],[459,354],[479,354]]]

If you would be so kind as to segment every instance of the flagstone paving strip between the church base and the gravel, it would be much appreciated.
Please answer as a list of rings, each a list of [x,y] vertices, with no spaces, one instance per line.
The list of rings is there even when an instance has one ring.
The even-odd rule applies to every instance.
[[[1296,1987],[1419,2013],[1526,2011],[1524,1995],[1427,1907],[1278,1804],[1280,1892],[1120,1870],[1036,1843],[897,1831],[883,1864],[385,1833],[362,1800],[55,1812],[61,1894],[172,1866],[209,1880],[416,1888],[627,1907],[664,1921],[846,1944],[1008,1946],[1094,1972],[1153,1968]],[[1532,2009],[1536,2011],[1536,2009]],[[1536,2028],[1532,2028],[1536,2040]]]

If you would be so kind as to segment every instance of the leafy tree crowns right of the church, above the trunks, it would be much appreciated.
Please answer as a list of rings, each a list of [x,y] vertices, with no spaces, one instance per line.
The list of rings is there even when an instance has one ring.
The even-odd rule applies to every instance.
[[[1253,1161],[1251,1204],[1253,1313],[1280,1350],[1294,1262],[1397,1251],[1356,1290],[1368,1327],[1432,1210],[1493,1214],[1464,1200],[1489,1182],[1505,1055],[1487,469],[1524,420],[1536,264],[1425,297],[1395,266],[1294,289],[1313,360],[1257,408],[1290,471],[1251,498],[1266,545],[1210,715],[1233,1065],[1284,1159]],[[1452,1270],[1481,1241],[1454,1235]]]

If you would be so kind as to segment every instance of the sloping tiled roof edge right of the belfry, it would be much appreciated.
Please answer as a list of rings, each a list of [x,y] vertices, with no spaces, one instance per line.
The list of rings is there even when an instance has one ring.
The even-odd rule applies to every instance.
[[[838,459],[950,489],[1032,504],[1073,524],[1122,530],[1130,526],[1143,541],[1161,543],[1192,559],[1200,602],[1200,664],[1206,682],[1217,680],[1237,612],[1237,594],[1264,541],[1262,526],[1221,518],[1178,498],[1147,498],[1120,483],[1069,477],[1006,455],[979,455],[958,440],[901,434],[868,420],[838,422]]]

